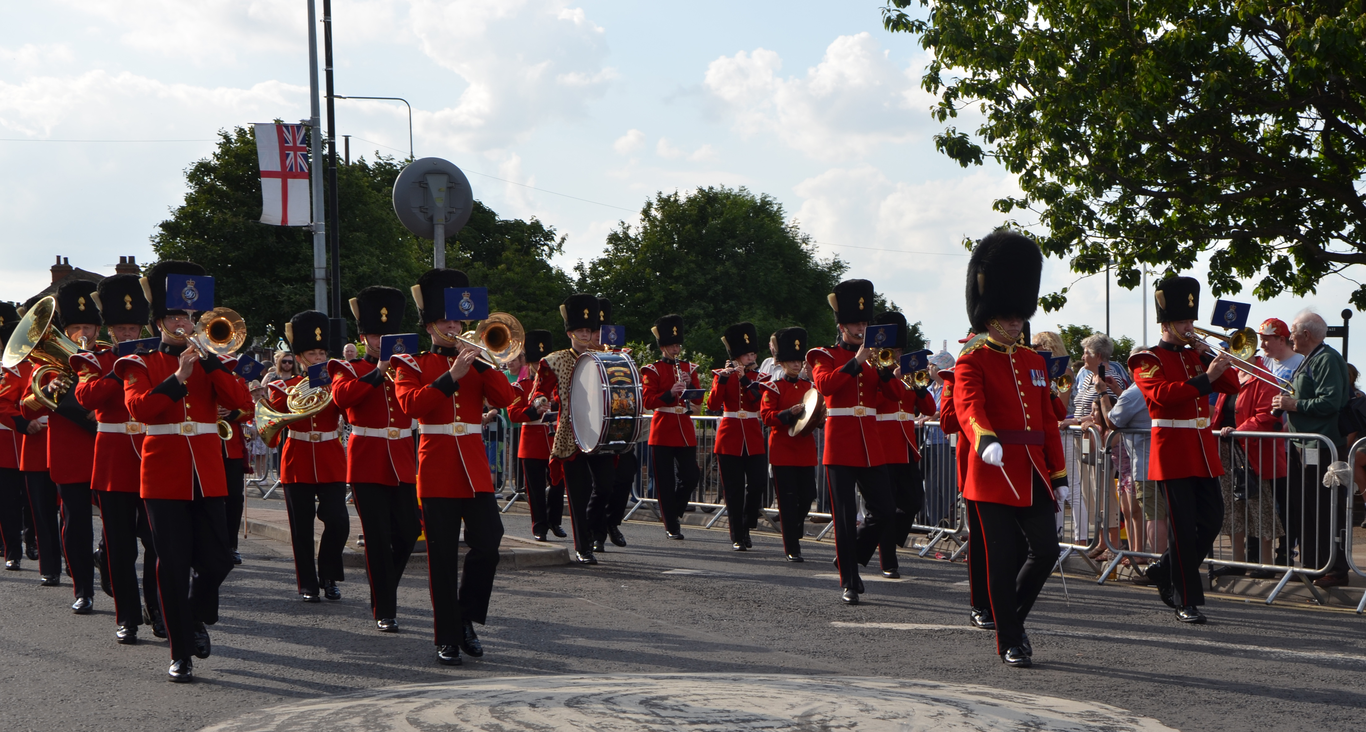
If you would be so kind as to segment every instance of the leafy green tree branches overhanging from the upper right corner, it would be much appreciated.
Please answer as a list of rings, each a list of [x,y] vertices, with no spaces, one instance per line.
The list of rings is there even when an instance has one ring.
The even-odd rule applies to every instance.
[[[1210,253],[1216,295],[1258,277],[1266,299],[1366,264],[1363,14],[1363,0],[887,0],[882,20],[932,52],[937,120],[979,105],[975,137],[948,127],[936,146],[1019,176],[996,209],[1034,212],[1046,253],[1085,273],[1113,261],[1127,288],[1143,264],[1180,272]]]

